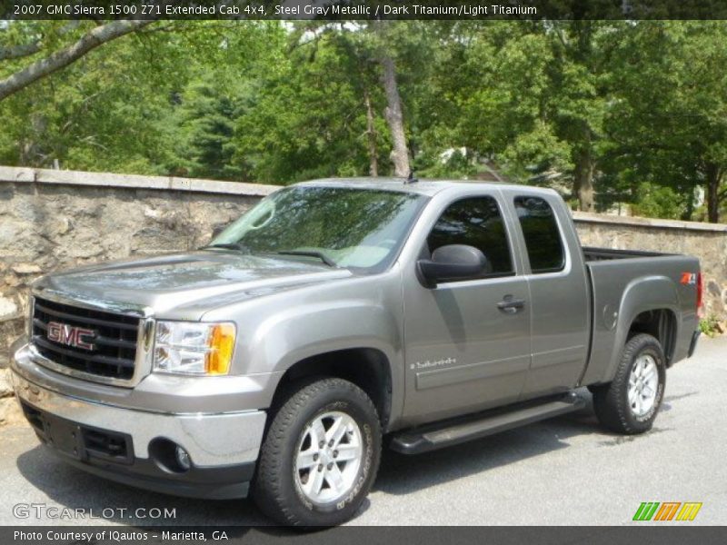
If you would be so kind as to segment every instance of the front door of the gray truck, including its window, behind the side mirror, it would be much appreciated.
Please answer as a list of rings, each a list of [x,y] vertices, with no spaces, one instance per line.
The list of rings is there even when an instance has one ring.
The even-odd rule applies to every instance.
[[[516,401],[530,366],[528,283],[494,195],[448,203],[423,244],[479,248],[489,270],[475,280],[404,284],[405,419],[438,420]],[[412,272],[413,274],[413,272]]]

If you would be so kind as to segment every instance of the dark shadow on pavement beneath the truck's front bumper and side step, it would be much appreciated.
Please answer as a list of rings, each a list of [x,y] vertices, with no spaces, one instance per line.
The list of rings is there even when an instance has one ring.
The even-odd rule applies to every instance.
[[[548,451],[567,448],[567,440],[573,436],[596,433],[608,436],[593,415],[590,395],[587,392],[583,395],[589,402],[581,411],[505,431],[479,441],[418,456],[404,456],[384,449],[381,469],[373,490],[406,494],[506,466]],[[16,465],[27,481],[57,504],[72,510],[93,510],[95,514],[100,514],[105,508],[126,510],[124,514],[115,514],[108,518],[112,522],[137,526],[259,527],[270,524],[250,500],[195,500],[138,490],[105,481],[68,466],[40,444],[20,454]],[[367,500],[362,512],[369,506]],[[176,517],[149,520],[135,516],[134,511],[139,508],[175,509]],[[55,523],[55,520],[39,521]],[[73,523],[69,520],[58,522]],[[268,527],[263,531],[285,533],[287,530]]]

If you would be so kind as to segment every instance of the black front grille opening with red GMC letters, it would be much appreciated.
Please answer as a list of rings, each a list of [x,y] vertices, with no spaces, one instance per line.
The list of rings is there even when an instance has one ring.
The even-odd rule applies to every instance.
[[[75,371],[134,376],[139,318],[36,298],[33,344],[48,360]]]

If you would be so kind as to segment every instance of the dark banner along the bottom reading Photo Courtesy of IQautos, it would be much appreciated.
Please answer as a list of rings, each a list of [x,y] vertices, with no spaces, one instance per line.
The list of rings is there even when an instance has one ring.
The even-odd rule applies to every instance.
[[[59,526],[0,527],[0,542],[15,545],[613,545],[658,543],[677,545],[724,543],[720,527],[354,527],[300,532],[284,528]]]

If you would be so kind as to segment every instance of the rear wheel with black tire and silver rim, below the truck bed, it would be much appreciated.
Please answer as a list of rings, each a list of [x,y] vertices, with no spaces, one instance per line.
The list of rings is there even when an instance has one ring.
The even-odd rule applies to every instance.
[[[665,385],[661,343],[646,333],[634,335],[623,347],[613,381],[593,389],[596,416],[617,433],[649,431],[662,406]]]

